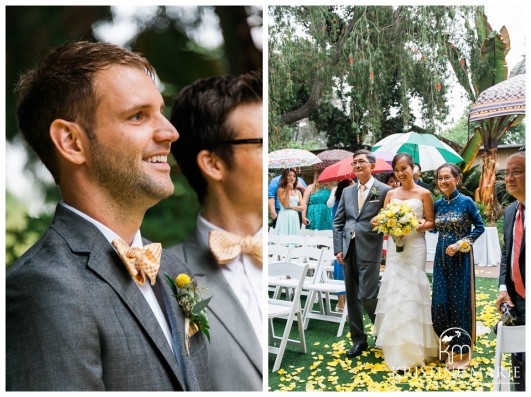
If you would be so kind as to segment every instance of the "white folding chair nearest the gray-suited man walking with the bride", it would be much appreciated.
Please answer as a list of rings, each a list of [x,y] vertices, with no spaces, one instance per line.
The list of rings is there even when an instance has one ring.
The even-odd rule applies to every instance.
[[[337,312],[332,309],[332,295],[337,295],[338,293],[345,292],[345,281],[344,280],[331,280],[328,277],[328,272],[326,268],[329,263],[333,263],[335,256],[333,251],[330,249],[325,249],[323,258],[321,260],[321,266],[316,271],[314,282],[312,284],[306,285],[305,288],[308,290],[308,298],[306,299],[306,304],[304,306],[304,329],[308,328],[308,324],[311,318],[323,321],[330,321],[339,323],[339,328],[337,330],[337,337],[339,338],[343,334],[343,329],[345,327],[345,321],[347,319],[347,306],[343,308],[343,312]],[[319,310],[314,311],[313,305],[315,300],[319,304]]]

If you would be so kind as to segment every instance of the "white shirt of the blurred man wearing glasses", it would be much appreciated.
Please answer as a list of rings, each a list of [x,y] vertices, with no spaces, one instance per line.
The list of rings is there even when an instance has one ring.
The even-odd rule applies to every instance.
[[[201,214],[197,218],[197,231],[201,244],[210,250],[208,234],[211,230],[222,230],[210,223]],[[261,237],[262,228],[253,237]],[[253,326],[254,333],[262,345],[262,268],[253,256],[239,255],[232,262],[220,266],[221,274],[227,280],[234,294],[240,301],[247,318]],[[208,286],[207,286],[208,287]],[[262,346],[263,350],[263,346]]]

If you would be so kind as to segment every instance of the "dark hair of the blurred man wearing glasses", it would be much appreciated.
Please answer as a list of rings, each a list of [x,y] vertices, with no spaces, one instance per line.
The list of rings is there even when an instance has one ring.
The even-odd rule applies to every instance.
[[[171,152],[201,202],[207,182],[197,165],[198,153],[212,151],[230,167],[234,153],[226,143],[236,132],[227,122],[228,116],[240,105],[260,102],[261,72],[198,80],[183,88],[175,100],[170,121],[179,139],[171,145]]]

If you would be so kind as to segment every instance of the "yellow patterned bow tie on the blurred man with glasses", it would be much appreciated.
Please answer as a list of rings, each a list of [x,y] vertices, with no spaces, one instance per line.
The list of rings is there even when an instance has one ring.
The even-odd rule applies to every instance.
[[[240,237],[236,234],[212,230],[208,235],[208,244],[220,265],[231,262],[240,254],[252,255],[262,266],[262,238]]]

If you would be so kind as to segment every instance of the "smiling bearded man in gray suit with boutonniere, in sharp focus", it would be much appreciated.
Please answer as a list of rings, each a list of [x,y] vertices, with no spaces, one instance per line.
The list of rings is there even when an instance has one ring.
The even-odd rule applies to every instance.
[[[191,337],[186,353],[184,315],[163,277],[188,269],[139,231],[173,192],[167,155],[178,138],[153,75],[138,54],[76,42],[19,81],[20,130],[63,200],[7,272],[7,390],[210,387],[206,339]]]

